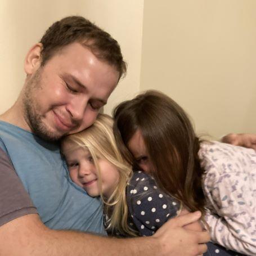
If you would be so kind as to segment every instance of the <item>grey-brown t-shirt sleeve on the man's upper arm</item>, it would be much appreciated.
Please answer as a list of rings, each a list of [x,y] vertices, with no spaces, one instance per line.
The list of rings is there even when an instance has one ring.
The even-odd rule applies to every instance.
[[[31,213],[37,213],[37,209],[6,152],[0,148],[0,226]]]

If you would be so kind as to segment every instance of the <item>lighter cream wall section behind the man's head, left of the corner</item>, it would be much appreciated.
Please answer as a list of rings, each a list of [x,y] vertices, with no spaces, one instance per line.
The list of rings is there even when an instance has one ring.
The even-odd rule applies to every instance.
[[[105,107],[131,97],[140,86],[142,0],[1,0],[0,1],[0,113],[14,104],[24,82],[23,61],[29,48],[53,21],[82,15],[104,28],[122,48],[129,70]],[[128,88],[128,89],[127,89]]]

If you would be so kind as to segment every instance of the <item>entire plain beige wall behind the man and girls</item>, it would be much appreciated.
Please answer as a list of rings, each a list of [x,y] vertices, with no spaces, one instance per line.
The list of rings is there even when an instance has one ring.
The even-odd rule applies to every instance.
[[[110,32],[128,75],[105,107],[159,89],[190,114],[198,132],[255,132],[256,1],[1,0],[0,113],[24,81],[23,60],[47,26],[83,15]]]

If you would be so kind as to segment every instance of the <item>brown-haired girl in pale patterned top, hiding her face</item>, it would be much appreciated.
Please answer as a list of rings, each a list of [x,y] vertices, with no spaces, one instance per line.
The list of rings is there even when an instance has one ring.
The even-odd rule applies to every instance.
[[[213,242],[256,255],[254,150],[200,141],[185,111],[157,91],[120,104],[114,120],[127,161],[151,174],[165,194],[200,210]]]

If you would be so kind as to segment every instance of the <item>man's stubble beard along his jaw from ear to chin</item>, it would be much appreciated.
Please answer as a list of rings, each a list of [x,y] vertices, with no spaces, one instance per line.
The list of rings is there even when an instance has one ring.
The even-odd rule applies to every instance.
[[[33,77],[25,85],[23,97],[24,118],[31,131],[46,141],[57,141],[64,134],[53,133],[43,122],[43,116],[38,114],[39,106],[36,101],[36,93],[41,93],[42,68],[39,68]]]

